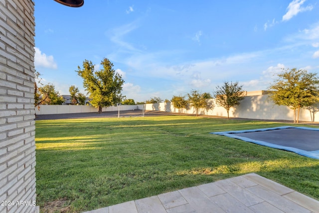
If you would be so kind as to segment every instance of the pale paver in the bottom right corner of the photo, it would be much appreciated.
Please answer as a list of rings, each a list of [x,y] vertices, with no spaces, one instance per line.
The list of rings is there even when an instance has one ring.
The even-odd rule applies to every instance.
[[[284,195],[285,198],[299,204],[314,213],[319,213],[319,201],[307,197],[299,192],[292,192],[287,195]]]

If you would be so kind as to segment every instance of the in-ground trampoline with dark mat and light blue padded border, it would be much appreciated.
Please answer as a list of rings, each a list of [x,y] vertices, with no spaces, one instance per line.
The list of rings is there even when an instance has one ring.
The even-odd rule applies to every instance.
[[[318,128],[283,126],[267,129],[212,132],[211,134],[223,135],[319,159]]]

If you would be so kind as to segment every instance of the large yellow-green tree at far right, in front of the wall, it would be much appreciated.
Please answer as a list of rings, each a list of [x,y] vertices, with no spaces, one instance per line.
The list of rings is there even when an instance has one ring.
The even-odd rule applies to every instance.
[[[294,110],[294,122],[299,122],[301,108],[319,102],[319,79],[317,73],[296,68],[283,69],[278,79],[270,87],[270,99],[277,105],[288,106]],[[296,111],[298,115],[296,116]],[[297,117],[297,119],[296,119]]]

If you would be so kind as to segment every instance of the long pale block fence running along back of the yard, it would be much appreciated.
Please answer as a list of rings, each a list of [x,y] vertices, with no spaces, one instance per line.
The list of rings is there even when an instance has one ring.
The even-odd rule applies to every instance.
[[[266,91],[253,91],[247,92],[244,100],[241,103],[231,108],[229,111],[230,117],[235,118],[249,118],[249,119],[267,119],[267,120],[294,120],[294,111],[286,106],[278,106],[274,104],[267,95]],[[214,101],[214,100],[213,100]],[[143,109],[175,112],[178,113],[178,109],[175,109],[170,102],[159,104],[141,104],[141,105],[120,105],[120,111]],[[319,107],[317,107],[317,110]],[[97,112],[97,108],[93,106],[76,106],[76,105],[41,105],[40,109],[35,108],[37,115],[45,114],[64,114],[64,113],[84,113],[84,112]],[[103,108],[105,111],[118,111],[118,107],[112,106]],[[196,114],[196,110],[192,107],[187,109],[180,109],[180,113]],[[199,110],[200,115],[214,115],[227,117],[227,112],[223,107],[219,107],[215,104],[212,110],[206,112],[205,109]],[[319,122],[319,112],[315,110],[312,113],[309,110],[302,109],[300,121],[307,122]]]

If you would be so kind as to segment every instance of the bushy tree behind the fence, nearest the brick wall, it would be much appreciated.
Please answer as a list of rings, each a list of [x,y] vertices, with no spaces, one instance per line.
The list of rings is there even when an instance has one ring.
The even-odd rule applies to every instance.
[[[53,84],[48,83],[38,88],[39,102],[38,104],[43,105],[61,105],[64,102],[62,96],[59,95],[58,91],[55,91]]]

